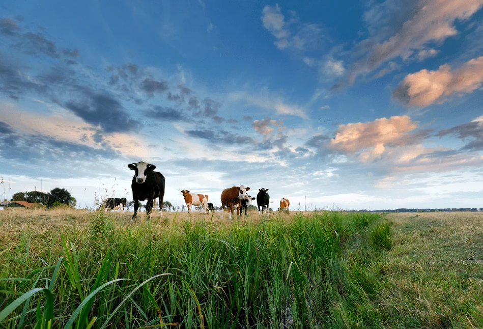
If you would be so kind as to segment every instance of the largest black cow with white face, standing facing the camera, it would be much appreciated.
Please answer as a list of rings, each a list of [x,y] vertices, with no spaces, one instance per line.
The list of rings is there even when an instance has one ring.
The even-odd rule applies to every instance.
[[[133,162],[127,165],[130,170],[136,173],[132,177],[131,189],[132,199],[134,200],[134,214],[131,221],[136,220],[137,209],[139,208],[139,200],[148,199],[146,204],[146,218],[149,220],[149,214],[153,208],[153,201],[159,198],[159,215],[162,216],[163,198],[164,198],[164,176],[156,171],[156,166],[143,161]]]

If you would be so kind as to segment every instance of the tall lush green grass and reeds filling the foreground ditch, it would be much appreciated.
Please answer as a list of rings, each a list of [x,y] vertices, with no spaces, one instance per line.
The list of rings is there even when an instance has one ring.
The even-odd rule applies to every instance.
[[[377,327],[377,280],[363,263],[379,215],[337,211],[288,221],[152,223],[91,215],[0,255],[8,328]],[[373,233],[375,234],[375,233]],[[32,249],[36,250],[35,255]]]

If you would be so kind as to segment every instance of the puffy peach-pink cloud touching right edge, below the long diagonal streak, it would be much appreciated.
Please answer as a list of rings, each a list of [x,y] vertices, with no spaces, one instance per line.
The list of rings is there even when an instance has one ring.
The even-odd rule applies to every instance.
[[[483,83],[483,56],[451,70],[448,64],[436,71],[421,70],[407,75],[392,92],[392,98],[407,106],[444,102],[451,95],[471,93]]]

